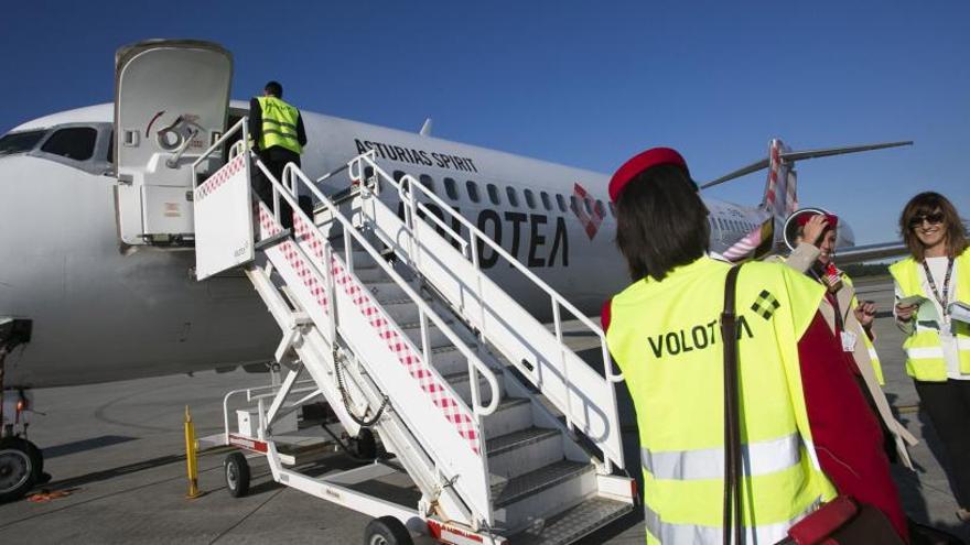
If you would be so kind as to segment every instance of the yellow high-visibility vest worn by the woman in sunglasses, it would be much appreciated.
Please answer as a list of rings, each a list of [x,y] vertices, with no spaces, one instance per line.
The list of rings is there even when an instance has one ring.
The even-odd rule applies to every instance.
[[[967,304],[970,302],[970,252],[963,251],[957,257],[957,279],[955,282],[956,293],[950,301],[959,301]],[[923,265],[912,257],[898,261],[890,266],[890,273],[899,284],[904,297],[922,295],[931,299],[934,295],[923,290],[919,269]],[[938,286],[942,290],[944,286]],[[926,303],[929,304],[929,303]],[[962,321],[953,321],[957,338],[957,352],[960,357],[960,372],[970,374],[970,326]],[[944,348],[939,338],[939,325],[934,327],[929,324],[916,321],[913,333],[903,342],[906,350],[906,374],[919,381],[945,382],[947,380],[947,362],[944,359]]]

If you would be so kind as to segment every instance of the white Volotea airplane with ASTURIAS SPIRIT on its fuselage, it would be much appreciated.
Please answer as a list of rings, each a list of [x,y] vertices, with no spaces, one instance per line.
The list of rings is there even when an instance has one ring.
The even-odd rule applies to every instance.
[[[26,414],[37,408],[31,389],[265,369],[272,360],[279,329],[246,276],[194,275],[190,165],[248,113],[248,102],[228,99],[230,80],[231,56],[216,44],[143,42],[119,50],[114,102],[41,117],[0,138],[0,466],[23,453],[34,470],[43,466],[25,434]],[[302,117],[304,172],[337,171],[373,152],[387,172],[432,188],[582,312],[596,315],[627,285],[608,175],[434,138],[430,122],[412,133]],[[702,186],[768,170],[759,204],[703,196],[712,252],[741,260],[779,251],[782,226],[797,208],[795,161],[903,144],[793,152],[772,140],[767,159]],[[332,176],[320,186],[334,195],[349,184]],[[380,198],[401,206],[396,192]],[[840,222],[837,246],[853,244]],[[495,263],[486,251],[488,274],[548,318],[548,301]],[[0,499],[23,493],[18,487],[0,478]]]

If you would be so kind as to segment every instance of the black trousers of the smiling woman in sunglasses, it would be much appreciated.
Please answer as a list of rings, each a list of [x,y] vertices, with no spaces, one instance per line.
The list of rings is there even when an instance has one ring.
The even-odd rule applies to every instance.
[[[970,509],[970,381],[914,382],[919,405],[929,415],[949,458],[957,503]]]

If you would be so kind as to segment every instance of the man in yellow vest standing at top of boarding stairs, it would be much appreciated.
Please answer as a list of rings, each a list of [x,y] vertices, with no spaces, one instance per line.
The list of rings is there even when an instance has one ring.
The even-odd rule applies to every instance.
[[[249,101],[249,135],[252,151],[269,172],[282,181],[283,168],[288,163],[300,166],[300,155],[306,145],[306,131],[300,110],[283,101],[283,86],[279,81],[266,84],[261,97]],[[268,206],[272,206],[272,187],[258,167],[254,171],[252,185],[256,194]],[[312,214],[309,196],[301,196],[300,208]],[[280,220],[284,228],[292,226],[290,206],[280,198]]]

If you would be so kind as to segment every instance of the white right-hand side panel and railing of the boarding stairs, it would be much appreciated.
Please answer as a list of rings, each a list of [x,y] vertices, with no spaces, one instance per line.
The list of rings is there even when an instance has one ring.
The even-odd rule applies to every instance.
[[[413,176],[395,179],[378,166],[373,153],[355,157],[349,164],[352,178],[363,179],[364,173],[373,170],[380,183],[396,190],[405,203],[402,220],[379,199],[365,199],[362,209],[377,236],[539,389],[562,412],[569,427],[581,432],[602,450],[605,473],[612,471],[612,465],[623,468],[623,437],[615,389],[623,375],[613,372],[613,360],[602,328]],[[436,205],[451,221],[443,221],[422,200]],[[455,232],[449,224],[460,225],[462,233]],[[453,241],[461,251],[455,250]],[[553,333],[482,270],[479,253],[484,246],[520,272],[527,283],[546,294],[552,309]],[[563,341],[563,309],[597,338],[605,377]]]

